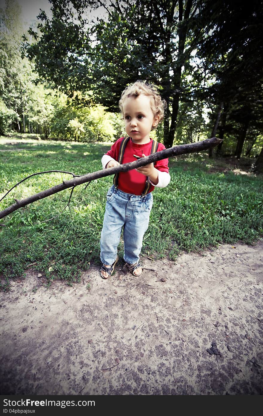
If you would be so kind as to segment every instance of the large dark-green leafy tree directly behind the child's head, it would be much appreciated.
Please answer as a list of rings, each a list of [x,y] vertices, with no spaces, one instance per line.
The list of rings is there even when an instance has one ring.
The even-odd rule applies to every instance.
[[[37,42],[27,45],[27,54],[35,59],[42,79],[68,94],[92,89],[93,99],[110,111],[117,110],[128,83],[137,79],[154,82],[168,105],[164,143],[171,147],[182,71],[191,52],[187,43],[189,21],[197,12],[198,1],[125,0],[108,5],[106,1],[77,0],[73,5],[74,10],[69,2],[52,0],[52,19],[44,12],[39,15],[41,37],[30,31]],[[85,7],[101,5],[108,14],[106,21],[98,19],[86,30],[88,22],[82,17]]]

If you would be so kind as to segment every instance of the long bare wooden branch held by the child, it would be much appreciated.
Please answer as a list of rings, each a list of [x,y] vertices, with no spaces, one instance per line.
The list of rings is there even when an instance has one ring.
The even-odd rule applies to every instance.
[[[171,156],[179,156],[182,154],[207,150],[211,147],[217,146],[221,143],[221,141],[221,139],[216,139],[216,137],[212,137],[211,139],[198,141],[197,143],[189,143],[182,144],[180,146],[174,146],[170,149],[165,149],[160,152],[156,152],[150,156],[141,158],[134,162],[125,163],[120,166],[113,166],[113,168],[103,169],[102,171],[97,171],[93,173],[87,173],[86,175],[75,177],[68,181],[63,181],[63,183],[60,183],[59,185],[55,185],[52,188],[46,189],[45,191],[36,193],[35,195],[29,196],[28,198],[22,199],[21,201],[17,200],[15,204],[11,205],[3,211],[0,211],[0,218],[4,218],[6,215],[11,214],[13,211],[22,208],[34,201],[39,201],[39,199],[46,198],[47,196],[53,195],[54,193],[63,191],[67,188],[71,188],[72,186],[81,185],[81,183],[93,181],[94,179],[103,178],[105,176],[115,175],[115,173],[117,172],[128,172],[131,169],[136,169],[140,166],[145,166],[148,163],[157,162],[158,160],[166,159]]]

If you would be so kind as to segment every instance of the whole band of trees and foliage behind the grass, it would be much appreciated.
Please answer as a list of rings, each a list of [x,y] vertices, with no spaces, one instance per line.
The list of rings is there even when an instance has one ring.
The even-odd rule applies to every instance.
[[[2,134],[12,125],[46,137],[112,140],[121,126],[110,112],[129,83],[144,79],[168,104],[156,131],[166,147],[218,134],[224,153],[260,153],[262,1],[51,0],[52,17],[41,10],[24,35],[23,59],[19,7],[6,4]]]

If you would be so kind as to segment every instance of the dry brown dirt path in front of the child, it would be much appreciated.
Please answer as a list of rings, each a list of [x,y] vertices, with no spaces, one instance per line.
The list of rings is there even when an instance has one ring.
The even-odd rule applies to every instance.
[[[12,282],[1,394],[263,394],[263,241],[143,264],[158,272]]]

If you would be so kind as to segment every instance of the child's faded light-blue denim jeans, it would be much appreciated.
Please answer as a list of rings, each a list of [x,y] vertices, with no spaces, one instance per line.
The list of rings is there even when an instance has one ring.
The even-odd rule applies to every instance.
[[[145,196],[120,191],[111,186],[107,193],[106,210],[101,231],[101,262],[112,265],[123,228],[124,261],[140,260],[143,235],[148,228],[152,209],[152,193]]]

